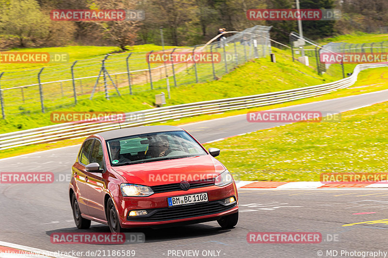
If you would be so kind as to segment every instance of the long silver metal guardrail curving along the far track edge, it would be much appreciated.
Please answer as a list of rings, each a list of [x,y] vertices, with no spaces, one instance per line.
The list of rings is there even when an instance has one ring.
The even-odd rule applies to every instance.
[[[96,123],[95,121],[78,121],[0,134],[0,150],[6,150],[31,144],[48,143],[64,139],[86,137],[99,132],[120,129],[120,126],[121,128],[134,127],[153,122],[162,122],[202,114],[219,113],[228,110],[268,106],[292,100],[323,95],[325,93],[344,89],[353,85],[357,80],[358,73],[362,70],[382,66],[388,66],[388,62],[358,64],[356,65],[351,76],[326,84],[308,86],[287,91],[276,91],[258,95],[202,101],[190,104],[165,106],[142,111],[129,112],[125,114],[126,120],[120,124],[113,123],[112,121],[100,123]],[[141,115],[141,119],[132,120],[133,117],[139,117],[139,115]]]

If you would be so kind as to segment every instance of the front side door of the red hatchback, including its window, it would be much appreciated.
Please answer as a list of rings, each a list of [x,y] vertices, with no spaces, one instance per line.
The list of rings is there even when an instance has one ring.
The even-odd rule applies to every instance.
[[[90,154],[90,163],[97,162],[102,173],[87,172],[86,175],[86,192],[89,204],[89,214],[99,219],[105,219],[104,197],[105,197],[105,180],[103,179],[106,166],[104,162],[104,154],[102,152],[102,144],[99,139],[96,139]]]

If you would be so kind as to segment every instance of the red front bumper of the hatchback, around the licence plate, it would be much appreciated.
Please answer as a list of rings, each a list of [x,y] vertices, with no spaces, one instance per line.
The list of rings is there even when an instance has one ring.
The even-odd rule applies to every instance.
[[[208,193],[209,201],[186,206],[168,207],[167,198]],[[226,205],[223,200],[235,197],[236,202]],[[122,228],[152,227],[157,228],[171,224],[193,224],[218,220],[238,212],[238,195],[235,183],[224,187],[208,186],[190,189],[188,191],[174,191],[153,194],[149,197],[118,197],[117,202],[120,224]],[[128,217],[129,211],[146,210],[148,215]]]

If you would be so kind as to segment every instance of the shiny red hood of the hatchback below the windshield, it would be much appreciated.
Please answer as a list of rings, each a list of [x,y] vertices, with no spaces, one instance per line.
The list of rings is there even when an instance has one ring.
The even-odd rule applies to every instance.
[[[112,168],[129,183],[147,186],[206,180],[226,169],[209,154]]]

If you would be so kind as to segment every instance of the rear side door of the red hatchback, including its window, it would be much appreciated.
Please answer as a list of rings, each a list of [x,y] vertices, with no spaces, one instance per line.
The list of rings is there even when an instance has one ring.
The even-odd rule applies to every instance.
[[[75,178],[76,191],[78,192],[78,203],[81,213],[89,215],[89,200],[88,189],[86,187],[86,170],[85,166],[90,162],[90,152],[92,151],[93,143],[95,139],[89,139],[83,143],[80,155],[78,157],[78,163],[73,166],[73,176]]]

